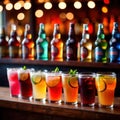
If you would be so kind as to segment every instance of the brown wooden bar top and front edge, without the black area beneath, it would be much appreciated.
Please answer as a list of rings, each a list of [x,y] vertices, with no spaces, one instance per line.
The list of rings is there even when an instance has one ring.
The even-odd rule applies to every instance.
[[[8,87],[0,87],[0,109],[12,109],[33,113],[46,114],[51,116],[62,116],[73,119],[119,119],[120,120],[120,98],[115,98],[114,108],[82,107],[78,105],[66,105],[64,103],[35,102],[13,98],[9,95]]]

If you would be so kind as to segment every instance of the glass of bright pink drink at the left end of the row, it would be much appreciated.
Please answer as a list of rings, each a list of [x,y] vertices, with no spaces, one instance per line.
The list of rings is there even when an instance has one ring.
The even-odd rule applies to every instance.
[[[19,97],[20,95],[20,84],[18,81],[17,70],[18,68],[7,68],[7,78],[11,97]]]

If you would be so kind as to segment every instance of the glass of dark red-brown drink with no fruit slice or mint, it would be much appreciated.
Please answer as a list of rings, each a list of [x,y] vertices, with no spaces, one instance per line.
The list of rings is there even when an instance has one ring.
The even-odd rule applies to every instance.
[[[95,73],[79,74],[80,99],[82,106],[95,105]]]

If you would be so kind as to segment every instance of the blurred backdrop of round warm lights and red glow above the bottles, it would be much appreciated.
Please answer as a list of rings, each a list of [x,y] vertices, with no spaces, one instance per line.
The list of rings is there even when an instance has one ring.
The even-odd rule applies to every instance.
[[[0,27],[5,27],[8,37],[11,24],[15,23],[19,37],[23,38],[28,23],[36,40],[41,22],[48,38],[52,37],[54,23],[59,23],[66,40],[69,23],[74,22],[78,40],[84,23],[89,24],[91,39],[96,37],[98,23],[104,24],[106,38],[110,39],[113,22],[120,23],[119,0],[0,0]]]

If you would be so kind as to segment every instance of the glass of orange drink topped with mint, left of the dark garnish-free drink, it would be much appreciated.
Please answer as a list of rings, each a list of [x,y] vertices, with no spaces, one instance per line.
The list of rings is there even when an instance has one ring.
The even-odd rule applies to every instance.
[[[78,77],[77,75],[62,74],[64,102],[76,104],[78,102]]]

